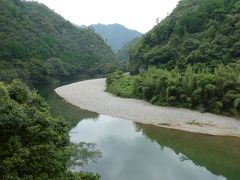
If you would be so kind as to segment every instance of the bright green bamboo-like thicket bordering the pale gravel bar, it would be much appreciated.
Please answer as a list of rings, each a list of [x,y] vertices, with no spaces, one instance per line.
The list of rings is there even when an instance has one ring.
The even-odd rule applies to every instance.
[[[117,96],[145,99],[162,106],[177,106],[228,115],[240,114],[240,62],[219,65],[214,72],[181,72],[151,67],[137,76],[116,72],[107,90]]]

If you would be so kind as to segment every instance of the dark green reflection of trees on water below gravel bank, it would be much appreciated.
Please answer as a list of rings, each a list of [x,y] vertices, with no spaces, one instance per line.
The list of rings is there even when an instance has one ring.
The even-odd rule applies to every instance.
[[[193,134],[139,123],[135,123],[135,127],[157,142],[161,149],[171,148],[180,160],[189,158],[196,165],[229,180],[240,177],[240,138]]]

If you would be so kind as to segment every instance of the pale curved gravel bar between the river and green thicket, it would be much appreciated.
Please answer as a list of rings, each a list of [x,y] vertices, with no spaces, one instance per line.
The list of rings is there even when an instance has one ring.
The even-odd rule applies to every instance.
[[[106,79],[81,81],[55,89],[67,102],[99,114],[194,133],[240,137],[240,120],[188,109],[159,107],[105,92]]]

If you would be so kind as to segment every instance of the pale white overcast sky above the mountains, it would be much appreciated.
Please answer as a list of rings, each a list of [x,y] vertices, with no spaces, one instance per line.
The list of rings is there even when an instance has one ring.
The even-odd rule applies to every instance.
[[[77,25],[119,23],[142,33],[171,13],[179,0],[36,0]]]

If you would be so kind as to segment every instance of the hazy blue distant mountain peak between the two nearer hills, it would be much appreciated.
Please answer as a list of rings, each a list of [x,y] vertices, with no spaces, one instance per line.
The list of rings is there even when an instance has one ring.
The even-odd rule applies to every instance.
[[[142,33],[128,29],[121,24],[93,24],[90,27],[104,39],[115,53],[126,43],[142,35]]]

